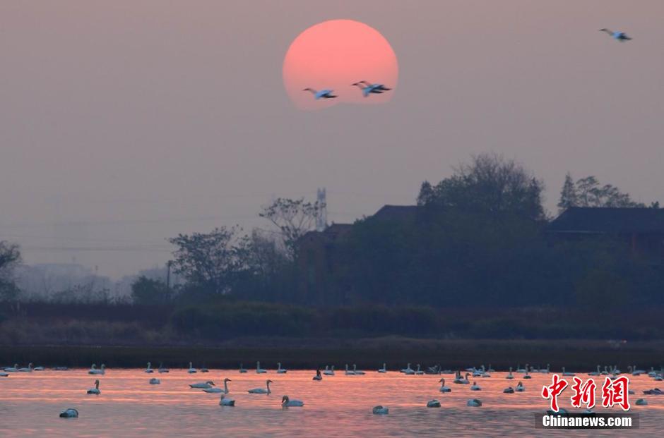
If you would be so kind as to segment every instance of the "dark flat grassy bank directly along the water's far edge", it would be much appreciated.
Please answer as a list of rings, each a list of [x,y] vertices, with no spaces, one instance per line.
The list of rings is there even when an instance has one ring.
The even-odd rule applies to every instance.
[[[236,368],[239,363],[251,368],[256,360],[263,367],[281,362],[291,369],[316,368],[356,363],[373,370],[386,362],[401,368],[406,362],[423,366],[440,363],[444,368],[460,369],[492,364],[506,369],[530,363],[552,370],[594,370],[596,365],[618,365],[627,370],[637,364],[649,369],[664,364],[664,341],[615,344],[607,341],[535,340],[434,340],[407,338],[378,339],[243,339],[208,346],[0,346],[0,364],[28,362],[35,365],[89,367],[144,367],[148,361],[168,367],[195,366]]]

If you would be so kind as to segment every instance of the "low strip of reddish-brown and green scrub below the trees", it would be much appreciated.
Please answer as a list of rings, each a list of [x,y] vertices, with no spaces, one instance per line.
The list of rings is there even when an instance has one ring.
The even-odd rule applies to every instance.
[[[246,336],[360,339],[664,339],[657,308],[308,307],[226,299],[189,305],[26,303],[0,308],[0,345],[213,346]],[[648,323],[646,323],[648,322]]]

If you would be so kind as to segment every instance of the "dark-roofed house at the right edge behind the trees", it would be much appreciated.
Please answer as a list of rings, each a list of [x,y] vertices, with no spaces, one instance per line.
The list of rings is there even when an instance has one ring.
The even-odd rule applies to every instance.
[[[571,207],[551,222],[547,232],[569,240],[617,238],[632,253],[664,256],[664,209]]]

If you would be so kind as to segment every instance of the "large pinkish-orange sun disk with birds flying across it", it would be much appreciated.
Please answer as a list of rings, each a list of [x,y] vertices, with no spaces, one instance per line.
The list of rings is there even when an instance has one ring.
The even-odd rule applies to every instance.
[[[362,97],[360,80],[391,88]],[[300,109],[330,107],[340,102],[386,103],[398,80],[396,55],[377,30],[354,20],[328,20],[304,30],[290,44],[283,61],[283,83]],[[314,99],[304,88],[332,89],[336,99]]]

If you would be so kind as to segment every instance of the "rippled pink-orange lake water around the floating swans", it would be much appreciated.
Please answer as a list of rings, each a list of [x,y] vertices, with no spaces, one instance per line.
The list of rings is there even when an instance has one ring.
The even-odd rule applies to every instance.
[[[476,378],[482,391],[470,391],[470,385],[452,384],[453,375],[379,374],[367,371],[362,376],[324,376],[312,381],[314,371],[289,371],[257,375],[249,370],[211,370],[189,375],[186,370],[148,375],[143,370],[107,370],[91,376],[87,370],[11,373],[0,377],[1,437],[401,437],[401,436],[490,436],[490,437],[636,437],[656,436],[664,427],[664,396],[643,396],[642,390],[660,387],[646,375],[631,377],[632,411],[640,413],[638,430],[564,430],[535,429],[533,413],[542,413],[548,401],[540,397],[551,376],[534,374],[523,380],[526,391],[502,394],[508,386],[505,372]],[[86,394],[99,378],[101,394]],[[150,385],[150,377],[161,384]],[[220,394],[206,394],[189,389],[189,384],[213,380],[223,387],[229,377],[230,394],[236,406],[219,406]],[[438,380],[446,379],[452,392],[441,394]],[[584,379],[588,378],[583,375]],[[265,387],[274,381],[270,395],[248,394],[247,389]],[[571,382],[571,377],[567,378]],[[473,378],[470,378],[472,383]],[[595,377],[601,387],[603,377]],[[303,408],[280,406],[283,395],[304,401]],[[569,405],[571,390],[559,398],[560,406]],[[598,391],[598,401],[600,401]],[[634,406],[644,397],[648,406]],[[480,408],[466,406],[468,399],[482,400]],[[427,401],[438,399],[441,408],[426,408]],[[601,403],[601,401],[600,401]],[[389,415],[373,415],[372,407],[388,406]],[[59,418],[64,408],[77,408],[80,417]],[[603,409],[596,409],[604,412]],[[608,410],[622,412],[619,408]]]

